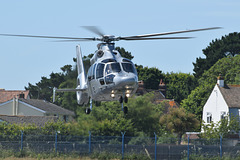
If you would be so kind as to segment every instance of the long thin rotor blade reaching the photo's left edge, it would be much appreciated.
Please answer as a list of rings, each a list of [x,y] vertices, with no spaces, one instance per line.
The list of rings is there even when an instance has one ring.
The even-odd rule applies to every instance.
[[[0,36],[53,38],[53,39],[69,39],[69,40],[93,40],[93,41],[96,39],[96,38],[77,38],[77,37],[35,36],[35,35],[21,35],[21,34],[0,34]]]

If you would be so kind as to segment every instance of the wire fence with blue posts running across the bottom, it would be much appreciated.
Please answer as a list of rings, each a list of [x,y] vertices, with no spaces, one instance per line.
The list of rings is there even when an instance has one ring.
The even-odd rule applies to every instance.
[[[64,136],[55,135],[24,135],[0,136],[1,150],[29,150],[36,153],[114,153],[124,159],[128,154],[138,154],[149,159],[189,159],[191,156],[222,157],[239,156],[238,139],[195,139],[181,140],[162,137],[127,137],[121,136]]]

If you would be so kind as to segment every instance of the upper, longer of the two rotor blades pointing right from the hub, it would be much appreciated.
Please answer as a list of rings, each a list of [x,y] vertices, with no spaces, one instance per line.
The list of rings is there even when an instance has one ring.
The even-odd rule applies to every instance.
[[[165,33],[153,33],[153,34],[143,34],[137,36],[128,36],[122,38],[142,38],[142,37],[153,37],[153,36],[163,36],[169,34],[179,34],[179,33],[187,33],[187,32],[198,32],[198,31],[206,31],[206,30],[213,30],[213,29],[220,29],[221,27],[212,27],[212,28],[202,28],[202,29],[193,29],[193,30],[184,30],[184,31],[174,31],[174,32],[165,32]]]

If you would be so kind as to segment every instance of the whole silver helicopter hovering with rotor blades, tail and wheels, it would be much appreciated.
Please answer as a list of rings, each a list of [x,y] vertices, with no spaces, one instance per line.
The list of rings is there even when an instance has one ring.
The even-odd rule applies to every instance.
[[[100,41],[97,45],[93,57],[90,59],[90,67],[87,74],[84,70],[83,58],[80,45],[76,46],[77,55],[77,87],[74,89],[53,89],[53,102],[56,92],[76,92],[77,103],[86,105],[90,102],[90,107],[86,109],[86,114],[92,110],[92,101],[119,101],[122,111],[128,112],[127,106],[123,107],[123,102],[127,103],[128,98],[135,94],[138,88],[138,75],[134,63],[121,56],[115,49],[115,41],[135,41],[135,40],[159,40],[159,39],[190,39],[193,37],[160,37],[171,34],[187,32],[206,31],[220,29],[220,27],[201,28],[193,30],[182,30],[174,32],[143,34],[135,36],[114,36],[105,35],[95,26],[84,26],[85,29],[97,34],[99,37],[78,38],[78,37],[55,37],[19,34],[0,34],[0,36],[17,36],[32,38],[52,38],[61,41]]]

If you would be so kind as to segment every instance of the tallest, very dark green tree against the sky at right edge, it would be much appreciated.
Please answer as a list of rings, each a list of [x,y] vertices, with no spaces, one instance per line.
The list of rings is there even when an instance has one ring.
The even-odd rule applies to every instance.
[[[240,33],[234,32],[222,36],[221,39],[212,41],[206,49],[203,49],[206,58],[197,58],[193,63],[194,76],[199,78],[210,69],[219,59],[240,54]]]

